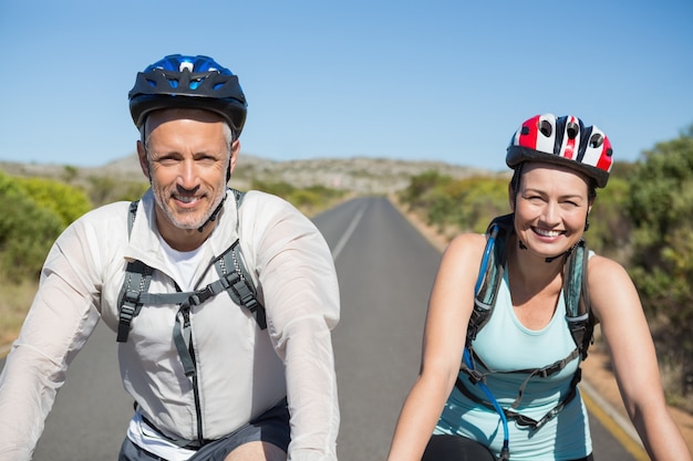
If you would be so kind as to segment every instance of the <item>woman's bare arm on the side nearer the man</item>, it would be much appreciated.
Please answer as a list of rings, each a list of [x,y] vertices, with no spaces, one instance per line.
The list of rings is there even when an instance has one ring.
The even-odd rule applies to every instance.
[[[443,254],[428,301],[418,378],[400,413],[389,461],[421,460],[455,385],[485,244],[484,235],[463,234]]]

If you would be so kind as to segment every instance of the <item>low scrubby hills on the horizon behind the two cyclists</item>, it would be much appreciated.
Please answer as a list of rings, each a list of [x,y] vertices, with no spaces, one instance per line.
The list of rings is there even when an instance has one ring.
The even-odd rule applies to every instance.
[[[0,161],[0,168],[17,176],[40,176],[53,178],[70,177],[79,181],[90,177],[124,178],[133,180],[142,176],[135,154],[111,161],[101,167],[72,167],[68,165],[22,164]],[[304,160],[277,161],[242,154],[230,184],[239,189],[248,189],[250,182],[288,182],[294,187],[325,186],[345,189],[355,193],[387,193],[408,186],[412,176],[427,170],[454,178],[469,176],[506,175],[478,168],[449,165],[442,161],[408,161],[383,158],[316,158]]]

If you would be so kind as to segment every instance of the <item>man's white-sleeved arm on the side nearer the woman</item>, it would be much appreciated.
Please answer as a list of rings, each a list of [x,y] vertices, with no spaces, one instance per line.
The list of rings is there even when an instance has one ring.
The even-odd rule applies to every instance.
[[[289,460],[337,460],[340,413],[331,329],[340,298],[334,263],[310,220],[288,205],[275,210],[258,213],[262,238],[256,268],[268,331],[286,367]]]

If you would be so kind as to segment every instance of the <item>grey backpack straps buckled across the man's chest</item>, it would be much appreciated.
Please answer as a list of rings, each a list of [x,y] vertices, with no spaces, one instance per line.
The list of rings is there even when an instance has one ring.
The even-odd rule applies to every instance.
[[[236,197],[236,205],[240,207],[244,192],[231,189]],[[132,233],[133,222],[137,212],[138,200],[130,205],[127,232]],[[238,208],[237,208],[238,211]],[[220,256],[214,261],[219,280],[201,290],[176,293],[149,293],[149,283],[154,270],[142,261],[131,261],[125,269],[125,280],[118,295],[118,332],[116,340],[125,343],[130,334],[132,321],[143,305],[179,304],[180,311],[186,314],[190,306],[199,305],[221,292],[227,292],[231,300],[250,311],[260,329],[267,328],[265,306],[257,298],[257,290],[242,261],[240,242],[238,239]],[[178,321],[176,322],[178,326]],[[185,338],[186,325],[180,326],[180,334]],[[176,344],[184,349],[183,343]],[[183,355],[182,355],[183,356]],[[184,360],[185,363],[185,360]],[[192,364],[190,364],[192,365]],[[188,367],[186,367],[188,368]]]

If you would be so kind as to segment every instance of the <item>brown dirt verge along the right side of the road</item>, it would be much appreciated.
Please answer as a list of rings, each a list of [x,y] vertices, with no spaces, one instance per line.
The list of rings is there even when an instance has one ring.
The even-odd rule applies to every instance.
[[[408,212],[397,201],[391,197],[392,203],[402,212],[402,214],[439,251],[443,251],[448,243],[445,235],[442,235],[424,220],[413,212]],[[609,355],[594,344],[590,347],[589,357],[582,364],[582,379],[610,406],[611,410],[618,412],[623,420],[628,420],[628,413],[621,401],[621,395],[616,383],[613,374],[610,371]],[[689,450],[693,452],[693,415],[680,410],[675,407],[669,407],[669,410],[676,421],[676,425],[683,433],[683,438],[689,446]]]

